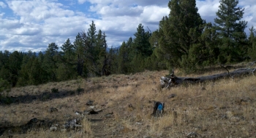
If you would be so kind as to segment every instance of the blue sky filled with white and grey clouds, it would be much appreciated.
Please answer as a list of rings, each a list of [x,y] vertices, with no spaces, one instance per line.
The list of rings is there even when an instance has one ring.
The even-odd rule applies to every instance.
[[[45,51],[48,44],[62,46],[88,31],[94,20],[97,31],[107,35],[108,46],[120,46],[136,32],[140,23],[151,31],[168,15],[169,0],[1,0],[0,51]],[[256,26],[256,1],[240,0],[248,26]],[[219,0],[197,0],[201,17],[213,22]],[[246,29],[249,31],[249,28]]]

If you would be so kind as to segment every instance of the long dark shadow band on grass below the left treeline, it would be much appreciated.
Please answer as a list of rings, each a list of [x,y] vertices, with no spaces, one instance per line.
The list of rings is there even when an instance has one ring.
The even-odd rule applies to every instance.
[[[100,89],[102,86],[94,86],[89,89],[77,89],[75,91],[60,91],[60,92],[42,92],[40,94],[26,94],[17,97],[0,97],[0,105],[10,105],[12,103],[31,103],[33,101],[48,101],[64,97],[72,97],[83,94],[84,92],[91,92],[95,89]]]

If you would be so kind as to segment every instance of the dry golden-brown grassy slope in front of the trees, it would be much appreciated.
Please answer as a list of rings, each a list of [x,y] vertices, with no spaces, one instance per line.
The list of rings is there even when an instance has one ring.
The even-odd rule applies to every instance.
[[[159,78],[167,73],[14,88],[13,103],[0,105],[0,137],[256,137],[255,76],[162,90]],[[154,101],[165,102],[161,118],[151,116]],[[91,107],[102,111],[86,115]],[[64,129],[74,119],[76,129]]]

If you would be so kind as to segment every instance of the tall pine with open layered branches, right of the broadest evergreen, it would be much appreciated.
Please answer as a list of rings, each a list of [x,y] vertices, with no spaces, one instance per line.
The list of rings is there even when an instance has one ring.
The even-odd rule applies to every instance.
[[[241,21],[244,9],[237,7],[238,0],[220,0],[219,10],[214,19],[219,38],[221,53],[219,62],[238,62],[244,60],[247,52],[246,28],[247,22]]]

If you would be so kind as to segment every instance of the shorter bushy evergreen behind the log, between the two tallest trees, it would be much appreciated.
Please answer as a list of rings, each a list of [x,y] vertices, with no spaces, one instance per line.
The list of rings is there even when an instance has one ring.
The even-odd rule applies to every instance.
[[[192,31],[189,34],[193,36]],[[219,48],[217,47],[219,38],[211,23],[203,25],[203,33],[194,39],[198,43],[192,44],[189,54],[183,55],[181,60],[181,68],[186,73],[193,73],[198,68],[216,64],[219,55]]]

